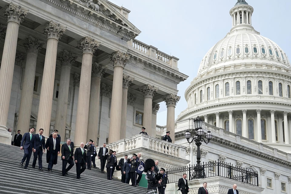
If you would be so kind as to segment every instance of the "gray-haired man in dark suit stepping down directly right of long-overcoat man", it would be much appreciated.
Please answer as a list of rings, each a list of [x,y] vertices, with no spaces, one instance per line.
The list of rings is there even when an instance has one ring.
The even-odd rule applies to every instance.
[[[71,145],[71,139],[62,145],[62,176],[67,176],[68,171],[74,166],[74,153]],[[67,164],[69,163],[68,168]]]

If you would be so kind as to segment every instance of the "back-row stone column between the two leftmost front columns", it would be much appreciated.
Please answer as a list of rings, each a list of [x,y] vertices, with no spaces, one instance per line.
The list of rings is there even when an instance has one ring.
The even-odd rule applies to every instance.
[[[17,123],[17,130],[21,130],[22,134],[27,132],[29,128],[33,86],[35,80],[36,59],[38,55],[38,50],[42,48],[42,43],[39,43],[38,39],[29,36],[29,38],[25,38],[24,46],[27,50],[27,56]]]

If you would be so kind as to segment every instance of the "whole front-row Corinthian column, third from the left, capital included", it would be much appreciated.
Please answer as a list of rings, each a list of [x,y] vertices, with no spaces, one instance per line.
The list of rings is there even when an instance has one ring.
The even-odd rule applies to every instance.
[[[75,131],[76,146],[78,146],[80,142],[87,141],[92,58],[99,44],[100,43],[95,42],[94,39],[89,37],[82,38],[78,44],[83,55]]]

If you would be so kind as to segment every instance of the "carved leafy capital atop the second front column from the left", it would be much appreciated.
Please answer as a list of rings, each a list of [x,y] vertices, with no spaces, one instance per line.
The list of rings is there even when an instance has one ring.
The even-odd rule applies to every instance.
[[[63,33],[65,33],[66,27],[50,21],[49,23],[45,24],[45,28],[43,29],[43,31],[47,38],[55,38],[59,40]]]

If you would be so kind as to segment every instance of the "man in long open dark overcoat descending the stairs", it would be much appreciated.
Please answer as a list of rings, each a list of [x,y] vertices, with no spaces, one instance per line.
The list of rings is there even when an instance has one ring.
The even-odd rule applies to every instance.
[[[45,144],[46,152],[46,162],[48,164],[48,171],[52,172],[52,167],[58,162],[58,154],[61,150],[61,145],[59,139],[57,139],[57,133],[53,133]]]

